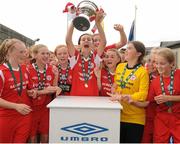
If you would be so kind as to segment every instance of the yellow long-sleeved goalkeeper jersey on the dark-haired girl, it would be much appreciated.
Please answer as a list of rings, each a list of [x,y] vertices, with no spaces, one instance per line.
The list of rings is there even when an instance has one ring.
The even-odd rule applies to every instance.
[[[131,95],[131,98],[135,101],[143,102],[146,100],[149,88],[149,74],[143,66],[128,68],[127,63],[119,64],[116,68],[114,82],[118,85],[117,92]],[[144,108],[136,107],[127,102],[121,102],[121,104],[123,106],[121,122],[145,124]]]

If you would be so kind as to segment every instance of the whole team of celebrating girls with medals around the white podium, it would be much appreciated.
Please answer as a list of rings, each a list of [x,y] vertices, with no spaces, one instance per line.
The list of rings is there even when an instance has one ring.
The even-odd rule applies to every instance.
[[[127,41],[123,27],[115,26],[120,43],[106,47],[102,17],[98,11],[95,23],[99,34],[81,35],[78,46],[72,42],[71,24],[66,45],[55,48],[52,61],[46,45],[27,49],[17,39],[1,43],[0,142],[48,143],[47,104],[60,95],[111,96],[110,100],[119,101],[123,105],[122,143],[180,141],[180,71],[174,53],[168,48],[152,51],[146,70],[142,63],[145,46],[132,41],[127,44],[124,62],[117,50]]]

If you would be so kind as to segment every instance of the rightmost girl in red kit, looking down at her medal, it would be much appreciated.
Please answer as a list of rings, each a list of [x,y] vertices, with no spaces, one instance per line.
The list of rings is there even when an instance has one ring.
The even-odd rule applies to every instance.
[[[149,100],[157,103],[154,119],[154,142],[180,142],[180,70],[175,69],[175,56],[171,49],[161,48],[156,67],[160,74],[150,85]]]

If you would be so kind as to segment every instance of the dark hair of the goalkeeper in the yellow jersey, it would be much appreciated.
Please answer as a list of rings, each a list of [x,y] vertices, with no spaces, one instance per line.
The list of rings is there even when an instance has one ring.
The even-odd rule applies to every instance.
[[[138,63],[142,63],[143,57],[146,53],[145,45],[140,41],[130,41],[129,43],[134,45],[137,52],[141,53],[141,55],[138,58]]]

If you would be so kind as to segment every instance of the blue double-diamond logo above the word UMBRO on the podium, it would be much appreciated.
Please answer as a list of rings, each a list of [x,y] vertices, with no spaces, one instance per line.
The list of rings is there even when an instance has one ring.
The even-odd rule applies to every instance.
[[[61,128],[61,130],[76,133],[82,136],[87,136],[95,133],[104,132],[107,131],[108,129],[89,123],[81,123],[81,124],[63,127]]]

